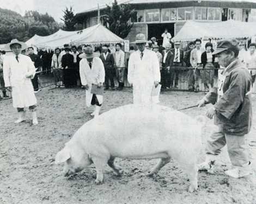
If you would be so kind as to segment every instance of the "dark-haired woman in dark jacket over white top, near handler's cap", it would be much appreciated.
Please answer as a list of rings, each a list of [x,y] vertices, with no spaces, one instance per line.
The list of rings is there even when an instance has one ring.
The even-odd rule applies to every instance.
[[[212,52],[214,52],[214,49],[212,49],[212,43],[206,43],[205,50],[206,51],[201,55],[201,61],[204,69],[202,71],[202,82],[204,83],[204,90],[208,92],[210,88],[214,87],[215,56],[212,55]]]

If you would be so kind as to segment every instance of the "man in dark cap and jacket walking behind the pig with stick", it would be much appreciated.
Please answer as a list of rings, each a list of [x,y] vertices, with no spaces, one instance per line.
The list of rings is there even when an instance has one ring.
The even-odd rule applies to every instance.
[[[216,55],[224,70],[219,75],[218,87],[212,88],[198,101],[198,106],[202,107],[205,103],[213,105],[206,112],[206,116],[210,119],[214,117],[218,130],[206,142],[206,158],[199,165],[199,170],[212,170],[216,156],[227,144],[234,168],[225,171],[225,174],[240,178],[252,173],[245,139],[252,125],[252,78],[238,59],[239,48],[236,42],[220,41],[212,54]]]

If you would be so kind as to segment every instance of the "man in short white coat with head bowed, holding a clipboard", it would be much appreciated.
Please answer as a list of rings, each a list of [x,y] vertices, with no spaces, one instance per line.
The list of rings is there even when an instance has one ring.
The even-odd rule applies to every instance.
[[[101,88],[105,81],[105,69],[100,58],[94,56],[93,48],[84,48],[84,54],[80,55],[83,58],[80,61],[80,78],[81,83],[86,89],[86,105],[90,107],[95,106],[94,112],[91,116],[98,116],[103,102],[103,95],[91,93],[92,86],[96,85]]]

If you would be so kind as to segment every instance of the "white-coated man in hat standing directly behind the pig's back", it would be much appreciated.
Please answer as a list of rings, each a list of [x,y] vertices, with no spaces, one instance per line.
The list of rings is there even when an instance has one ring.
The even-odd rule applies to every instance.
[[[155,52],[145,49],[144,34],[137,34],[135,43],[138,50],[130,56],[127,78],[133,86],[133,103],[148,105],[155,102],[151,93],[161,79],[159,60]]]

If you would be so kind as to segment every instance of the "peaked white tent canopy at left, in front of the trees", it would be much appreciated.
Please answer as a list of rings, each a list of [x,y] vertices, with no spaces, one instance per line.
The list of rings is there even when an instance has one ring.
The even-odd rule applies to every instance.
[[[96,44],[96,43],[117,43],[123,42],[119,36],[112,33],[101,24],[80,30],[64,31],[59,30],[49,36],[34,35],[26,43],[36,47],[56,48],[62,47],[65,43],[71,44]]]

